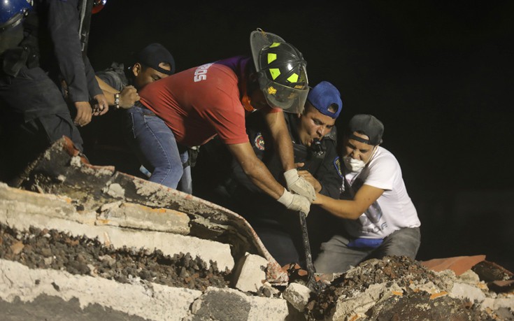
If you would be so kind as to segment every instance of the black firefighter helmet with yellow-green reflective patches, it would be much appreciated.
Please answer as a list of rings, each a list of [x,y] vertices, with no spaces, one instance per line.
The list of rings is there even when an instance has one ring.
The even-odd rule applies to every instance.
[[[268,104],[301,113],[309,90],[307,62],[301,52],[280,36],[260,29],[250,34],[250,45],[259,87]]]

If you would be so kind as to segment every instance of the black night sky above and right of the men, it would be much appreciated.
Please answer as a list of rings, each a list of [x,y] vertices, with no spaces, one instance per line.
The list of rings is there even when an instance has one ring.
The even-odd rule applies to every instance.
[[[181,71],[249,54],[257,27],[282,36],[310,85],[341,91],[341,129],[355,113],[384,122],[422,220],[418,257],[485,254],[513,270],[514,2],[278,2],[108,0],[88,55],[99,70],[159,42]]]

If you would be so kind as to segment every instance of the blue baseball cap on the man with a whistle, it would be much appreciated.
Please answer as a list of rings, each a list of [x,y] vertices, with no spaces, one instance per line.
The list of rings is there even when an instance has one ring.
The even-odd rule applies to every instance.
[[[323,115],[327,115],[334,119],[337,118],[343,109],[343,101],[341,101],[341,93],[334,85],[328,81],[318,83],[309,91],[307,96],[308,102],[320,111]],[[336,105],[336,111],[329,110],[331,105]]]

